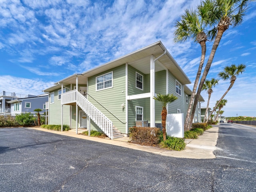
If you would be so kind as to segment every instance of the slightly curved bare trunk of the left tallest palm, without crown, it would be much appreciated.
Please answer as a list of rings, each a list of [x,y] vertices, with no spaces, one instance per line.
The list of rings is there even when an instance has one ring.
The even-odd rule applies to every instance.
[[[202,71],[202,68],[203,68],[203,65],[204,65],[205,54],[206,54],[206,43],[205,42],[206,41],[201,41],[200,42],[200,45],[201,45],[201,60],[200,60],[200,64],[199,64],[199,67],[198,67],[197,74],[196,74],[196,79],[195,79],[195,82],[194,82],[194,87],[193,87],[193,90],[192,90],[192,94],[190,96],[190,101],[189,101],[189,104],[188,104],[188,111],[187,111],[186,120],[185,120],[185,123],[184,123],[184,131],[188,131],[190,129],[189,122],[190,122],[190,118],[191,118],[191,116],[190,116],[191,109],[192,109],[193,100],[194,100],[194,97],[195,97],[195,94],[196,94],[196,89],[197,89],[197,86],[198,86],[198,82],[199,82],[199,79],[200,79],[201,71]]]

